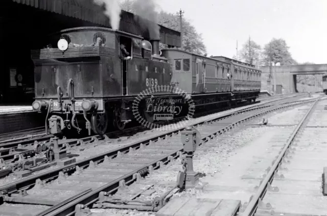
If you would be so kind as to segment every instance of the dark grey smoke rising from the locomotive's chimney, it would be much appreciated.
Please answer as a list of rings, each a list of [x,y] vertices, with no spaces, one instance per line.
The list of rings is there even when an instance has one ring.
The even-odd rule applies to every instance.
[[[133,8],[135,14],[139,17],[135,19],[141,24],[141,27],[149,30],[151,39],[160,39],[160,28],[158,23],[156,4],[154,0],[135,0]]]

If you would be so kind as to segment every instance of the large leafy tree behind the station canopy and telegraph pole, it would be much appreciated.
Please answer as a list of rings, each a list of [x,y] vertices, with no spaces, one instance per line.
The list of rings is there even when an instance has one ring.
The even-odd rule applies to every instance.
[[[135,2],[133,0],[124,0],[121,4],[121,8],[125,11],[134,13]],[[169,29],[180,31],[179,17],[161,11],[158,15],[158,24],[163,25]],[[198,55],[204,55],[206,53],[206,47],[204,45],[202,35],[197,33],[195,27],[186,19],[182,18],[183,22],[183,47],[182,50],[189,51]],[[166,44],[160,43],[160,48],[167,48]]]

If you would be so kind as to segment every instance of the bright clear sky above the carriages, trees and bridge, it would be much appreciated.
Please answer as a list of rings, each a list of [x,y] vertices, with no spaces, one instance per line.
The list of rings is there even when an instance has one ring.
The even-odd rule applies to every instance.
[[[299,63],[327,64],[327,0],[155,0],[158,8],[184,11],[202,34],[208,56],[236,55],[251,40],[262,47],[283,38]]]

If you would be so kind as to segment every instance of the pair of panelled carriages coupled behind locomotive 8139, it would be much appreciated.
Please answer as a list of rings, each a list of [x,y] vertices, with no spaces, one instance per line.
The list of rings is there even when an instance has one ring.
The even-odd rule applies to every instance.
[[[225,57],[204,57],[178,49],[164,49],[173,68],[172,83],[192,94],[196,106],[230,105],[259,96],[261,71],[254,65]]]

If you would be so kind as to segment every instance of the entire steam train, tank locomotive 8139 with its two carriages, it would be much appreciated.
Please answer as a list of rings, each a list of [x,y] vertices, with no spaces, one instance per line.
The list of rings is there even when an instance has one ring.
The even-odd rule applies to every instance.
[[[50,117],[53,134],[85,129],[104,134],[134,120],[151,124],[158,119],[153,112],[158,106],[168,107],[164,114],[178,116],[188,115],[190,106],[230,105],[259,96],[261,71],[253,65],[160,50],[159,41],[100,27],[51,35],[48,47],[31,51],[33,109]],[[121,44],[130,57],[122,57]],[[184,112],[176,111],[176,104]]]

